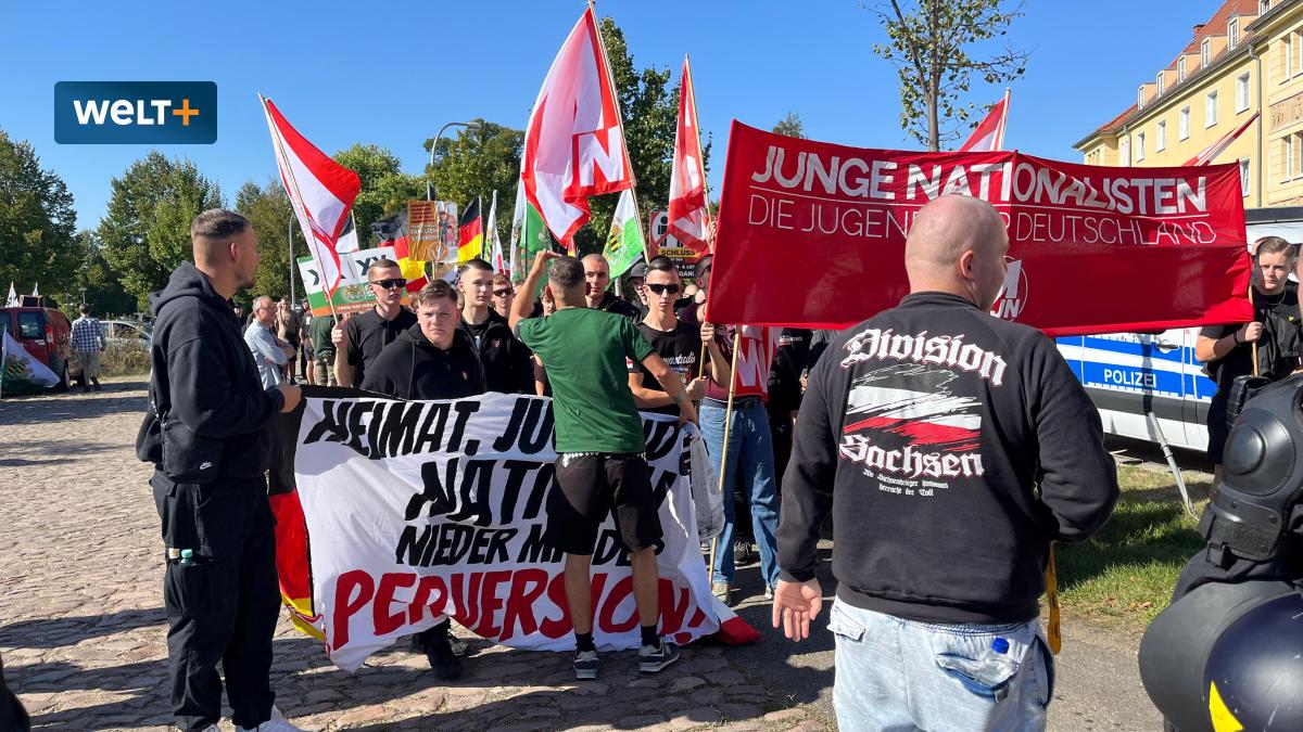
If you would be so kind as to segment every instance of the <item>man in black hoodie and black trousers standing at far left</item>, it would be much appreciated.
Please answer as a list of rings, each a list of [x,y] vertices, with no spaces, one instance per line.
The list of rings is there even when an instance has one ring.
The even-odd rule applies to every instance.
[[[289,732],[268,675],[280,587],[265,473],[267,429],[292,412],[298,387],[263,389],[231,297],[253,285],[258,237],[222,210],[190,224],[182,262],[150,296],[150,414],[137,455],[154,462],[163,520],[172,712],[181,729],[216,728],[222,677],[237,729]]]

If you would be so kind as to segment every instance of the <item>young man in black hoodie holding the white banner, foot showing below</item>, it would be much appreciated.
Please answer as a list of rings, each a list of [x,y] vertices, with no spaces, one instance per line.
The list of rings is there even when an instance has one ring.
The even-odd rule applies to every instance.
[[[366,369],[362,388],[399,399],[464,399],[485,392],[480,359],[469,336],[460,328],[457,296],[452,285],[435,280],[416,293],[417,324],[399,333]],[[461,659],[453,654],[451,621],[422,630],[416,642],[425,651],[435,676],[461,676]]]

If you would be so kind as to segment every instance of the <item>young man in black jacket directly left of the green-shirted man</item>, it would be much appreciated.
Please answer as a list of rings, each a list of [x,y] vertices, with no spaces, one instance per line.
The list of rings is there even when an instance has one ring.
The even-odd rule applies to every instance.
[[[489,307],[494,287],[493,264],[472,259],[461,266],[460,330],[483,369],[485,391],[534,393],[534,365],[529,349],[511,333],[507,318]]]

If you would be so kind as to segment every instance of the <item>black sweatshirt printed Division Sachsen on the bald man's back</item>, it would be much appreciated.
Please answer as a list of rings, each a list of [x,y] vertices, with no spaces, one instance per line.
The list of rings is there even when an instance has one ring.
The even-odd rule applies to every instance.
[[[783,478],[782,577],[814,576],[831,512],[838,598],[926,623],[1037,615],[1052,541],[1108,521],[1117,468],[1054,343],[946,293],[840,333],[809,375]]]

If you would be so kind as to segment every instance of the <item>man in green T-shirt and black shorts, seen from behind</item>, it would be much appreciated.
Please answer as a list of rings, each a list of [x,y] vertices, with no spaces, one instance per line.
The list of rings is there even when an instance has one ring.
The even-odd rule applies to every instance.
[[[653,350],[633,320],[584,306],[586,267],[573,257],[538,253],[511,306],[511,330],[542,359],[552,386],[556,465],[543,541],[566,552],[575,676],[597,679],[593,550],[602,522],[607,516],[615,518],[633,574],[633,604],[641,626],[638,671],[657,673],[679,660],[679,650],[659,633],[655,546],[662,538],[661,516],[646,462],[642,418],[629,391],[625,363],[648,370],[678,406],[680,425],[696,422],[697,410],[683,379]],[[546,290],[556,301],[556,313],[530,318],[545,270]]]

